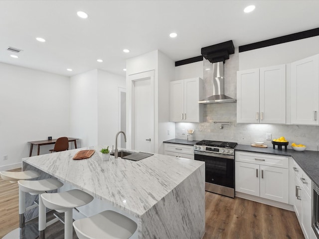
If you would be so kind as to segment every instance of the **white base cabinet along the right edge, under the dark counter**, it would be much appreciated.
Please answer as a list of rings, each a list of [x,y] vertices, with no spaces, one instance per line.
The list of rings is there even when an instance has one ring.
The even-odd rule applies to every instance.
[[[306,173],[294,162],[295,171],[295,201],[294,209],[306,239],[311,239],[311,184],[312,181]]]

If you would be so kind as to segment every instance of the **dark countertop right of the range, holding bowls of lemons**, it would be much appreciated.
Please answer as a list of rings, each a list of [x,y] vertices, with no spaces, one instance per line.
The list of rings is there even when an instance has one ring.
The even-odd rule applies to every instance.
[[[250,145],[238,144],[235,148],[236,151],[246,151],[252,153],[267,153],[281,156],[291,156],[298,163],[298,165],[305,171],[310,179],[319,187],[319,152],[305,150],[302,152],[295,151],[294,149],[278,150],[273,147],[257,148]]]

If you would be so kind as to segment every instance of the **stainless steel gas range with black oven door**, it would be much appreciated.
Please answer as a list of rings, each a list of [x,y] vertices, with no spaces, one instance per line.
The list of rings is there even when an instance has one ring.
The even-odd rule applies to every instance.
[[[235,197],[235,147],[237,143],[201,140],[194,159],[205,162],[205,190]]]

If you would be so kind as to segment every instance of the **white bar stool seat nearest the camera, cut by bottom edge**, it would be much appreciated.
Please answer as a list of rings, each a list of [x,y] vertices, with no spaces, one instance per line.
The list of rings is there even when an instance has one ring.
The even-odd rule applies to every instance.
[[[104,211],[73,223],[79,239],[128,239],[138,225],[128,217],[114,211]]]

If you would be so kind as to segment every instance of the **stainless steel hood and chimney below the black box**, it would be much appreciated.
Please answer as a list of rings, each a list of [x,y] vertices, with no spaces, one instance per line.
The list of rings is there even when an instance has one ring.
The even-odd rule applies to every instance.
[[[213,76],[213,95],[205,98],[198,103],[201,104],[214,104],[214,103],[234,103],[236,99],[233,99],[225,95],[225,82],[224,82],[224,63],[215,62],[211,70]]]

